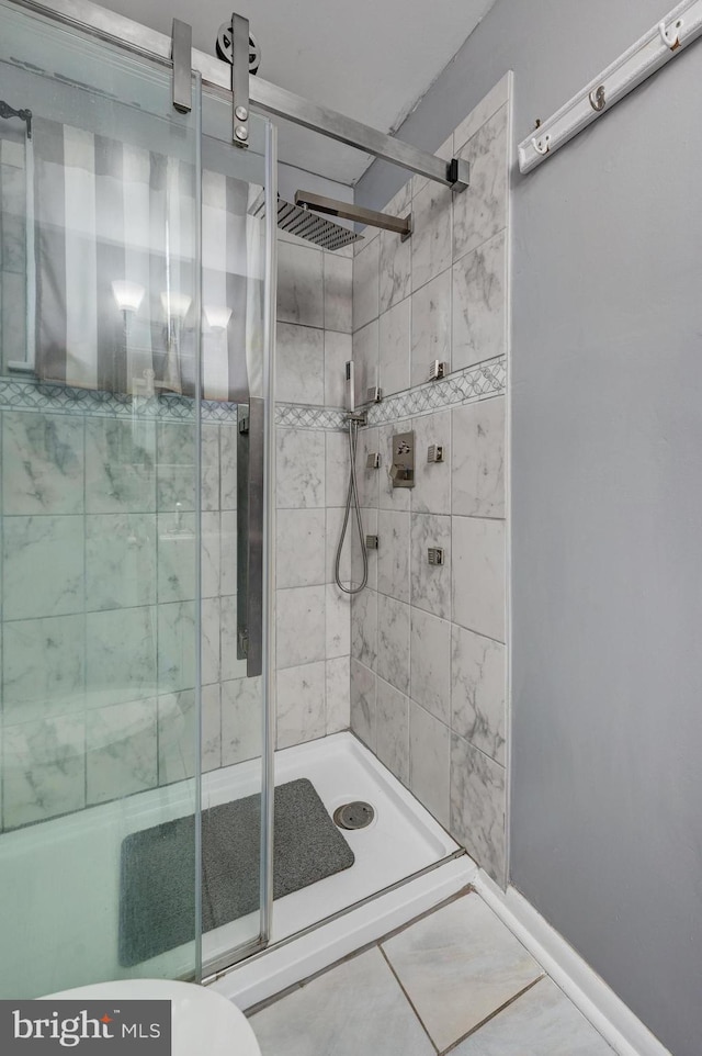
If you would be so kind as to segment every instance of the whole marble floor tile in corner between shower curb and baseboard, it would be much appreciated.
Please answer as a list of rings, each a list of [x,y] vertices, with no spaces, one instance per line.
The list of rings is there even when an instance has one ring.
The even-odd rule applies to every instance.
[[[440,1052],[543,974],[475,894],[410,924],[383,950]]]

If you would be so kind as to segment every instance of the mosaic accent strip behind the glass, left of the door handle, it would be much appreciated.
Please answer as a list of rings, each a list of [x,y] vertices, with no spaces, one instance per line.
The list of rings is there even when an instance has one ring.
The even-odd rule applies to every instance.
[[[237,405],[215,400],[202,401],[203,422],[236,423]],[[45,385],[37,381],[0,379],[0,411],[41,411],[52,414],[83,414],[110,418],[165,418],[189,422],[193,401],[188,396],[161,393],[132,397],[126,393]]]

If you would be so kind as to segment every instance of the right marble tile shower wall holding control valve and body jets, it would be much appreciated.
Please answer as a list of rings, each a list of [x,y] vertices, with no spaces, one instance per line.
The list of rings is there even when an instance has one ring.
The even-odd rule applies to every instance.
[[[456,403],[454,386],[442,408],[418,386],[433,359],[456,372],[507,355],[509,90],[507,76],[440,151],[471,161],[468,190],[452,195],[415,177],[387,206],[411,212],[411,238],[369,232],[353,260],[356,371],[384,397],[410,393],[390,401],[395,420],[378,418],[359,443],[364,523],[380,543],[369,589],[352,604],[352,729],[499,883],[506,397],[471,390]],[[393,434],[409,429],[416,486],[394,488]],[[443,446],[444,462],[427,461],[430,445]],[[370,452],[380,470],[366,469]],[[428,547],[443,548],[443,566],[428,564]],[[355,574],[358,544],[351,561]]]

